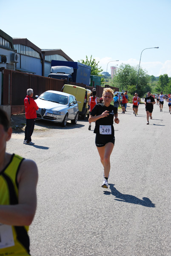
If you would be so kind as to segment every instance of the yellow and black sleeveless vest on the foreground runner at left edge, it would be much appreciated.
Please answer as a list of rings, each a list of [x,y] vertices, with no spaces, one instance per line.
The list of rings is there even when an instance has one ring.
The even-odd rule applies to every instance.
[[[2,170],[2,172],[0,172],[0,205],[18,204],[17,174],[23,160],[24,158],[13,154],[9,164]],[[6,225],[3,224],[1,224],[1,226],[6,227]],[[7,229],[8,228],[12,229],[11,236],[13,236],[12,240],[14,245],[8,245],[9,247],[6,247],[4,244],[8,243],[4,242],[3,244],[3,227],[0,227],[0,256],[30,255],[28,226],[7,226]]]

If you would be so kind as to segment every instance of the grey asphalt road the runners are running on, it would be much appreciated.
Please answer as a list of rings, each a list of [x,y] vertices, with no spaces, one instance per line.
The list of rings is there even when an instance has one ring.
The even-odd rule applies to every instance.
[[[34,146],[12,135],[7,151],[39,169],[32,256],[171,256],[171,114],[166,102],[163,112],[154,105],[146,125],[144,105],[138,116],[131,107],[114,124],[109,189],[87,119],[66,128],[37,121]]]

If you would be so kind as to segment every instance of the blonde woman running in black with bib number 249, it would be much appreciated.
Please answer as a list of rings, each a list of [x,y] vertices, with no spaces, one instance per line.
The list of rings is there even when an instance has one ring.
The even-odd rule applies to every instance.
[[[111,88],[103,90],[103,102],[94,106],[88,122],[96,122],[94,133],[96,134],[96,146],[100,155],[100,161],[104,167],[104,180],[102,187],[108,188],[108,177],[110,172],[110,156],[114,148],[114,126],[119,124],[117,108],[111,105],[114,92]]]

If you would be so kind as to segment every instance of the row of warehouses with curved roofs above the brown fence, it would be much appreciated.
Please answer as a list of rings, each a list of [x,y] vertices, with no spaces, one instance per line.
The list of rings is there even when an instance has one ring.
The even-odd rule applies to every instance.
[[[61,49],[40,49],[27,38],[11,38],[0,30],[0,67],[48,77],[51,60],[73,61]]]

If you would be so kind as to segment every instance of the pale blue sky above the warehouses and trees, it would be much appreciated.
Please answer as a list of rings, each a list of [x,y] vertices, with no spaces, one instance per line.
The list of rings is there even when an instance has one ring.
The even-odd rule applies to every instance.
[[[0,0],[0,11],[1,30],[40,49],[171,77],[171,0]]]

